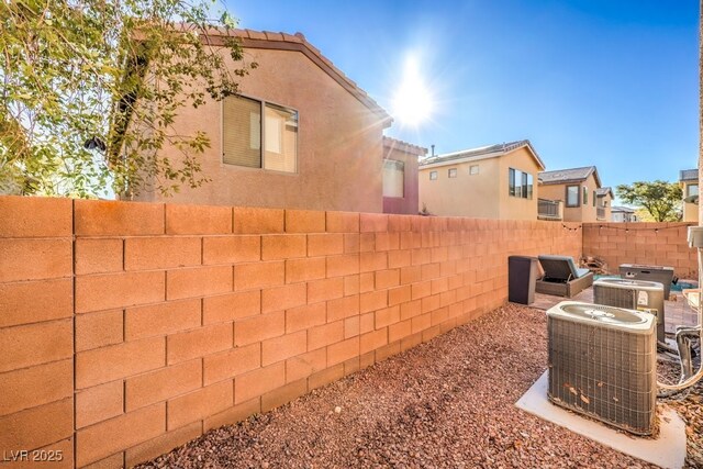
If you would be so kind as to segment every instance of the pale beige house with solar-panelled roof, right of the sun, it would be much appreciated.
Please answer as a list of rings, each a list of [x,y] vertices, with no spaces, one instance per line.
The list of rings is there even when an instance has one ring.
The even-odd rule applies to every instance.
[[[537,172],[545,165],[529,141],[420,160],[420,209],[434,215],[537,219]]]

